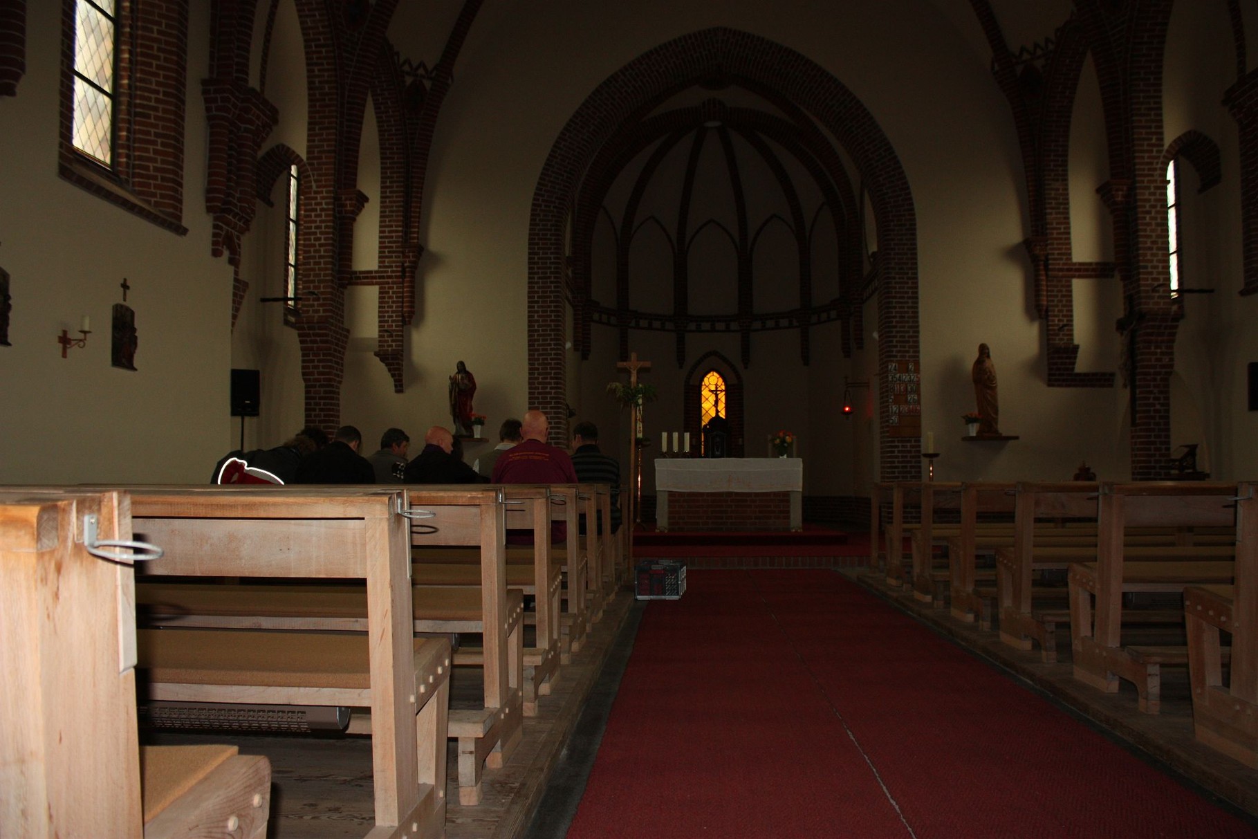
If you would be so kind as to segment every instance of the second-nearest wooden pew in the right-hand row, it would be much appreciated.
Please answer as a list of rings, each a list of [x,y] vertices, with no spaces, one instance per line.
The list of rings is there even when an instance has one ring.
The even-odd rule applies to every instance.
[[[1162,664],[1186,663],[1184,648],[1127,649],[1122,645],[1122,594],[1125,590],[1183,591],[1193,582],[1218,582],[1206,574],[1205,562],[1185,564],[1181,574],[1169,571],[1151,582],[1123,569],[1123,532],[1142,525],[1234,525],[1237,486],[1205,482],[1106,483],[1099,493],[1099,541],[1097,561],[1072,565],[1069,571],[1071,643],[1074,678],[1107,693],[1118,689],[1118,679],[1136,684],[1140,709],[1157,713],[1159,677]],[[1180,564],[1174,564],[1180,565]],[[1089,567],[1091,566],[1091,567]],[[1092,620],[1091,596],[1096,596]]]

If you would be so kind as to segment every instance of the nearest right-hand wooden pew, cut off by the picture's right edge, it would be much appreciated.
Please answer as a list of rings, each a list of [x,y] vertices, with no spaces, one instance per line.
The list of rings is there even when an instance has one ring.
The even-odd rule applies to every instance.
[[[1184,590],[1196,738],[1258,769],[1258,484],[1237,488],[1235,584]],[[1223,683],[1220,633],[1232,634]]]

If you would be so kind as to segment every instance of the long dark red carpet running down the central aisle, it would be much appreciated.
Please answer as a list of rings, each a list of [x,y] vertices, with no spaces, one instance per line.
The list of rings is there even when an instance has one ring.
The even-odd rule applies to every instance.
[[[1258,836],[832,571],[647,610],[569,836]]]

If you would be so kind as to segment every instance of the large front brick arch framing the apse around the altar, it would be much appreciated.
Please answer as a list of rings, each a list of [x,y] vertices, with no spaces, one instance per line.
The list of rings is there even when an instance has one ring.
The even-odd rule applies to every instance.
[[[600,148],[626,121],[712,73],[770,89],[809,114],[847,151],[866,184],[878,226],[879,375],[888,361],[918,361],[917,221],[912,191],[894,148],[860,101],[834,75],[781,44],[723,26],[655,47],[608,77],[581,103],[551,146],[533,191],[528,229],[528,401],[562,418],[564,294],[569,208]],[[891,438],[887,406],[879,473],[921,474],[920,440]],[[551,428],[566,439],[566,420]]]

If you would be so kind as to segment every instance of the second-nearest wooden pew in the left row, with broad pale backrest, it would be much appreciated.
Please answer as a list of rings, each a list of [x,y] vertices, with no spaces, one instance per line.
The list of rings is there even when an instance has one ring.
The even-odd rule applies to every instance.
[[[380,488],[145,487],[132,492],[136,530],[166,548],[161,560],[146,566],[152,574],[365,580],[369,687],[362,699],[371,708],[376,816],[369,836],[394,835],[409,825],[419,825],[415,830],[421,829],[423,835],[440,835],[444,829],[445,790],[431,782],[444,771],[444,761],[438,761],[440,766],[419,765],[421,753],[431,758],[443,751],[435,746],[442,741],[435,731],[435,717],[442,712],[435,706],[429,709],[431,702],[416,693],[428,675],[434,682],[438,677],[418,673],[416,663],[443,659],[423,655],[413,638],[405,512],[403,493]],[[162,660],[150,663],[162,674]],[[179,675],[177,668],[171,670]],[[445,675],[448,672],[447,667]],[[493,678],[487,673],[487,682]],[[230,674],[224,673],[220,681],[230,681]],[[283,696],[286,704],[326,704],[318,684],[289,684],[284,691],[258,687],[279,686],[218,684],[209,678],[196,684],[172,678],[155,682],[150,698],[270,703]],[[293,701],[302,696],[302,688],[316,692],[309,701]],[[425,714],[423,721],[420,713]],[[435,741],[418,748],[421,731]]]

